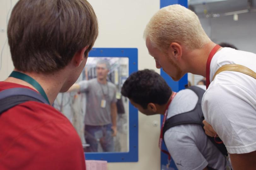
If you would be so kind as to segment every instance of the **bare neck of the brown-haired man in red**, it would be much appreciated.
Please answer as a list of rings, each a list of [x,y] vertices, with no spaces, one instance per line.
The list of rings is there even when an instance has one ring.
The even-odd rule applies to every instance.
[[[18,70],[14,70],[18,71]],[[46,96],[48,97],[48,100],[50,104],[52,105],[55,101],[58,93],[61,90],[62,85],[64,84],[64,79],[61,77],[61,74],[54,73],[54,74],[37,74],[37,73],[27,73],[27,72],[21,72],[24,73],[30,77],[32,77],[34,80],[36,80],[44,89],[44,92],[46,93]],[[63,74],[66,75],[66,74]],[[11,82],[16,83],[20,85],[28,86],[36,91],[38,91],[35,87],[33,87],[31,84],[27,83],[26,81],[16,79],[14,77],[8,77],[5,82]]]

